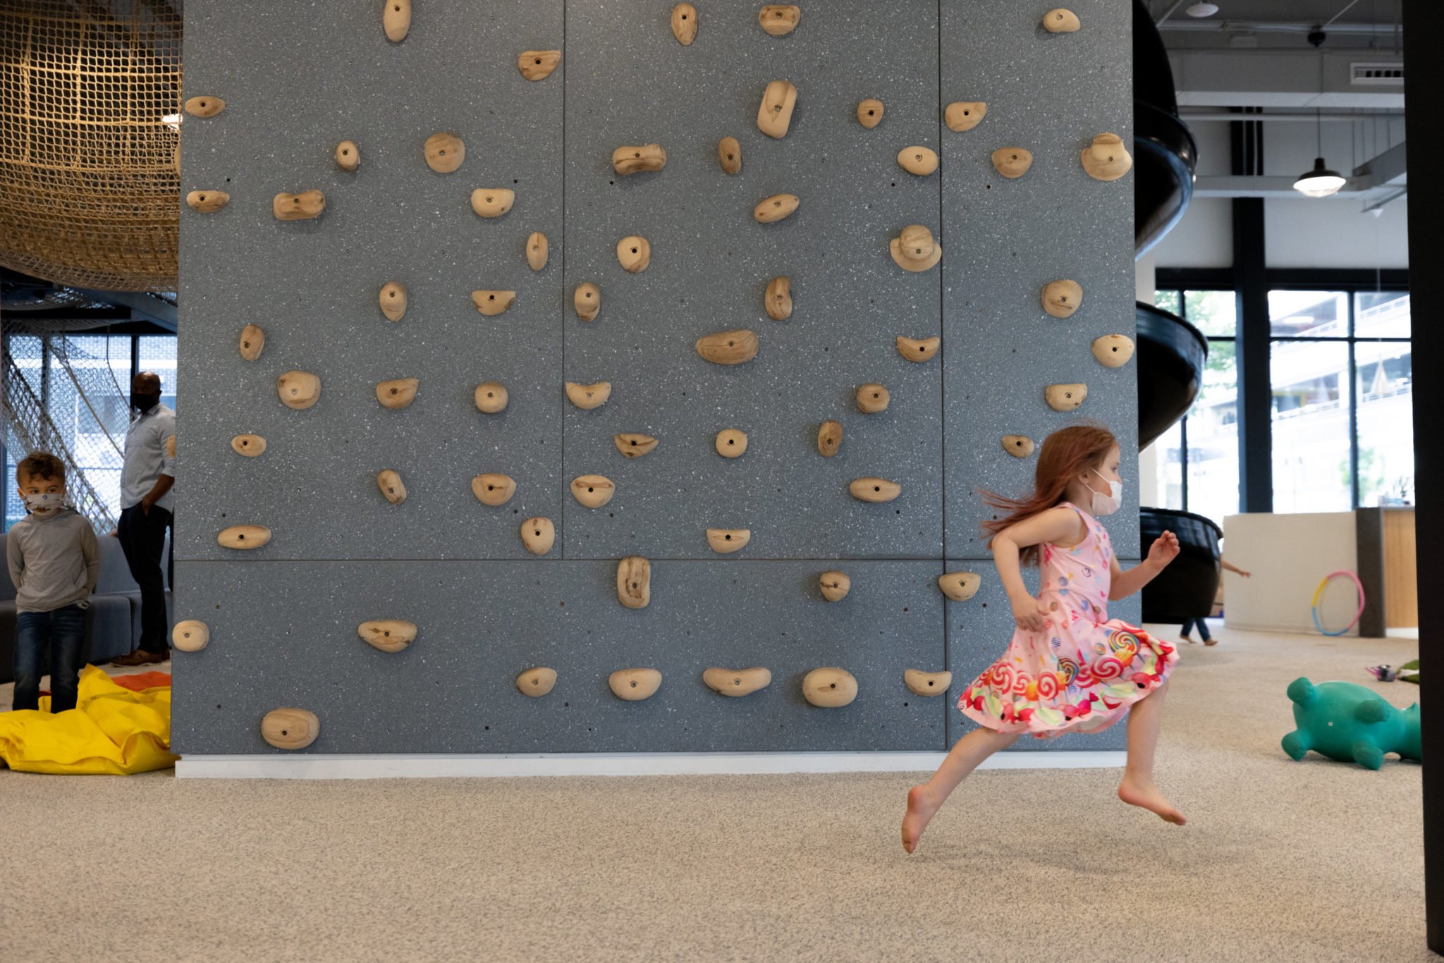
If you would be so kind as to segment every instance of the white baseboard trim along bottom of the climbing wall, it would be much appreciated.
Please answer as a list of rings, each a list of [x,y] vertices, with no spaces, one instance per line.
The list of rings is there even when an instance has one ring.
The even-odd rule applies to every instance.
[[[501,755],[186,755],[189,780],[394,780],[521,775],[926,772],[944,752],[575,752]],[[983,770],[1122,768],[1123,751],[999,752]]]

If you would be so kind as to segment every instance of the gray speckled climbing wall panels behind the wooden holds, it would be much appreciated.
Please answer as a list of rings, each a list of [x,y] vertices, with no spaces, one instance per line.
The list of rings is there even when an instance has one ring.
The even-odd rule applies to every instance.
[[[384,29],[388,9],[400,35],[396,6],[410,7],[403,39]],[[1128,4],[1076,4],[1082,27],[1051,33],[1043,6],[832,0],[773,36],[761,4],[728,0],[697,4],[689,45],[674,6],[186,4],[185,95],[225,105],[182,127],[182,193],[209,202],[180,211],[176,618],[209,641],[176,655],[176,751],[287,751],[273,745],[290,729],[263,738],[279,707],[319,720],[302,752],[944,749],[970,728],[959,690],[1011,632],[975,489],[1027,488],[1035,455],[1002,436],[1041,443],[1079,417],[1118,432],[1128,495],[1110,531],[1136,556],[1132,365],[1090,351],[1132,335],[1132,180],[1080,163],[1099,133],[1131,144]],[[527,79],[549,64],[523,51],[560,62]],[[758,108],[778,79],[797,100],[771,137]],[[864,98],[882,103],[871,128]],[[950,130],[953,101],[986,116]],[[427,163],[438,133],[465,144],[452,172],[432,165],[451,166],[453,143],[442,159],[433,140]],[[336,154],[348,140],[354,170]],[[660,170],[614,166],[618,147],[653,143]],[[905,170],[907,147],[939,169]],[[1001,147],[1032,166],[1002,176]],[[308,191],[319,217],[276,217],[277,193],[300,195],[282,199],[289,217]],[[500,217],[474,209],[507,191]],[[774,195],[797,211],[760,222]],[[894,261],[908,225],[941,245],[939,264]],[[624,238],[645,240],[644,270],[624,267]],[[786,319],[767,310],[777,277]],[[1066,319],[1040,300],[1060,279],[1083,292]],[[406,293],[397,321],[387,284]],[[482,313],[472,292],[511,306]],[[254,360],[247,325],[264,332]],[[739,331],[758,342],[745,362],[697,349]],[[319,380],[308,407],[279,391],[293,371]],[[414,400],[384,404],[378,385],[407,378]],[[478,409],[484,383],[505,387],[504,410]],[[573,403],[604,384],[605,403]],[[865,384],[887,387],[885,410],[859,410]],[[1087,400],[1056,411],[1050,384],[1086,384]],[[842,440],[825,456],[829,420]],[[237,450],[257,445],[241,435],[264,452]],[[383,471],[396,476],[378,485]],[[869,478],[897,497],[855,497]],[[546,526],[523,526],[537,518],[549,549],[530,534]],[[258,547],[224,543],[261,528]],[[619,599],[628,556],[650,562],[645,608]],[[939,576],[959,570],[980,588],[950,601]],[[823,598],[826,572],[851,579],[840,601]],[[375,619],[413,624],[414,641],[367,644],[358,627]],[[745,697],[703,681],[754,666],[771,684]],[[542,697],[517,689],[533,667],[556,671]],[[661,673],[645,700],[608,684],[634,667]],[[851,673],[856,699],[810,705],[820,667]],[[952,687],[915,694],[908,668],[952,671]],[[1121,726],[1048,748],[1119,745]]]

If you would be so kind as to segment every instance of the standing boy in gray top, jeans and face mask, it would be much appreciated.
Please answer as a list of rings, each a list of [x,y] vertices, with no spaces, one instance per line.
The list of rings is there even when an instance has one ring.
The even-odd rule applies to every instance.
[[[51,712],[75,707],[85,609],[100,578],[100,546],[85,515],[65,504],[65,462],[30,452],[16,466],[29,514],[10,527],[6,556],[16,588],[14,703],[39,709],[45,654],[51,661]]]

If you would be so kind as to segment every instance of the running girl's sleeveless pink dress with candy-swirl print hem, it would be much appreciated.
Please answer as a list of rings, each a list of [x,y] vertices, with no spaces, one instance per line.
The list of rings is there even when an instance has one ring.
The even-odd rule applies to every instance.
[[[1063,505],[1079,513],[1087,534],[1071,549],[1038,546],[1037,598],[1051,611],[1044,631],[1017,629],[957,700],[963,715],[998,732],[1099,732],[1164,684],[1178,661],[1168,642],[1108,618],[1113,546],[1096,518]]]

